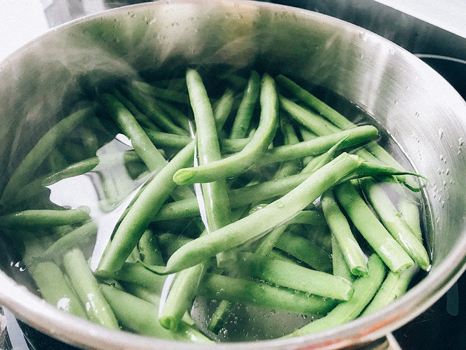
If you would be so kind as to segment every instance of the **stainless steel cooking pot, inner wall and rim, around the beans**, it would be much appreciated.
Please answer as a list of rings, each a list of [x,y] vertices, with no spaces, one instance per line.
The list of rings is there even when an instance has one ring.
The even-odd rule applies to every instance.
[[[390,41],[318,13],[240,0],[159,1],[78,19],[0,64],[0,188],[18,159],[100,83],[184,65],[253,64],[323,86],[373,116],[429,179],[429,274],[389,307],[340,327],[215,349],[336,349],[373,341],[426,310],[465,270],[466,103],[437,73]],[[4,249],[4,248],[2,248]],[[1,252],[2,254],[4,252]],[[3,262],[7,270],[8,262]],[[0,304],[36,329],[89,349],[180,344],[102,328],[47,305],[0,272]],[[190,349],[208,349],[190,345]]]

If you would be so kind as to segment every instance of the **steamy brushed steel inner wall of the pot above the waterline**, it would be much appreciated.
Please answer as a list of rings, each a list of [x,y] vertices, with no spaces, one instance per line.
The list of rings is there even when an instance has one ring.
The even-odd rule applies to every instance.
[[[430,273],[447,257],[457,266],[442,271],[459,269],[465,102],[427,65],[385,39],[287,7],[229,1],[131,6],[30,43],[0,64],[0,188],[36,140],[93,92],[90,86],[165,78],[187,65],[284,73],[374,117],[429,179]]]

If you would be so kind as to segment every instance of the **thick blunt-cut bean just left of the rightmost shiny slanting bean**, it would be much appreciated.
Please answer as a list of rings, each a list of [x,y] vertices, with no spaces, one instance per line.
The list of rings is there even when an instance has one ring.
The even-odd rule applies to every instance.
[[[335,197],[364,239],[390,270],[400,272],[414,264],[367,206],[351,182],[336,186]]]

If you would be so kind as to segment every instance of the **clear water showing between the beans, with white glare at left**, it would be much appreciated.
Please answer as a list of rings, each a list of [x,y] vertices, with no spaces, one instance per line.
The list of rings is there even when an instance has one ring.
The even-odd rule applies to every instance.
[[[323,89],[313,90],[318,97],[327,102],[330,106],[338,110],[341,114],[349,117],[357,124],[370,123],[378,127],[380,131],[380,139],[378,142],[384,146],[394,157],[408,170],[411,169],[408,158],[403,154],[400,148],[396,145],[394,139],[385,133],[377,122],[367,116],[357,106],[349,101],[335,96],[334,94]],[[80,129],[70,135],[67,142],[74,143],[79,137]],[[101,136],[101,135],[100,135]],[[96,265],[102,256],[102,253],[114,232],[121,216],[124,213],[127,205],[137,194],[138,190],[143,186],[145,181],[149,179],[150,174],[145,165],[138,160],[128,163],[125,156],[131,152],[132,147],[129,140],[123,135],[117,135],[114,138],[108,138],[103,146],[97,151],[97,156],[104,158],[106,155],[111,155],[111,162],[102,162],[91,172],[79,175],[73,178],[68,178],[48,186],[50,191],[50,201],[60,206],[67,208],[77,208],[79,206],[87,206],[90,210],[90,216],[98,222],[99,231],[97,237],[92,239],[80,248],[91,257],[91,267],[96,268]],[[173,150],[167,150],[167,158],[171,156]],[[131,169],[129,168],[131,167]],[[273,174],[275,168],[266,169],[266,177]],[[392,194],[394,195],[394,194]],[[394,201],[396,198],[393,196]],[[421,194],[416,195],[416,200],[419,201],[420,212],[425,218],[425,199]],[[318,204],[318,202],[317,202]],[[428,221],[423,220],[423,228],[428,232]],[[192,232],[192,219],[180,220],[179,223],[159,222],[154,227],[160,232],[169,231],[174,234],[189,235]],[[310,235],[323,235],[328,238],[328,231],[310,233]],[[11,246],[7,239],[7,246]],[[329,253],[331,251],[326,249]],[[21,258],[16,251],[9,251],[9,260],[2,260],[2,268],[9,271],[14,278],[26,284],[31,290],[36,291],[34,282],[29,275],[24,272],[24,266],[21,263]],[[234,305],[230,310],[229,316],[226,319],[223,328],[218,335],[211,334],[207,331],[207,324],[215,311],[218,301],[207,300],[203,297],[196,297],[194,300],[191,315],[196,322],[196,325],[210,337],[217,341],[252,341],[277,338],[285,335],[296,328],[299,328],[312,320],[311,316],[299,315],[284,311],[271,311],[258,307]]]

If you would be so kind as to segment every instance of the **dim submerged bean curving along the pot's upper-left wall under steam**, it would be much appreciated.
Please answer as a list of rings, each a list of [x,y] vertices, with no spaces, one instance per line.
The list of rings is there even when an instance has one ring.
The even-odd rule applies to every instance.
[[[1,194],[0,204],[3,206],[8,205],[10,200],[15,197],[18,190],[31,181],[36,169],[40,166],[42,161],[47,158],[61,139],[92,113],[92,108],[84,108],[65,117],[52,126],[52,128],[37,141],[36,145],[14,170]]]

